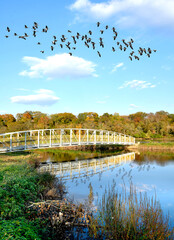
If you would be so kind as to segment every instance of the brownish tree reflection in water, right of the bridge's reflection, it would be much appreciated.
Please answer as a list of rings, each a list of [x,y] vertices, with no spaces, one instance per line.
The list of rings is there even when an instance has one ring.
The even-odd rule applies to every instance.
[[[166,151],[143,151],[135,154],[135,163],[142,165],[146,162],[156,163],[160,166],[166,166],[169,162],[174,162],[174,152]]]

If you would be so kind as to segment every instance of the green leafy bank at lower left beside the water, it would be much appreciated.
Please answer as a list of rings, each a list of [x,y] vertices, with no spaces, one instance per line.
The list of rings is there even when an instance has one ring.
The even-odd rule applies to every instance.
[[[0,239],[51,239],[50,223],[28,209],[45,199],[55,178],[35,169],[35,155],[0,155]]]

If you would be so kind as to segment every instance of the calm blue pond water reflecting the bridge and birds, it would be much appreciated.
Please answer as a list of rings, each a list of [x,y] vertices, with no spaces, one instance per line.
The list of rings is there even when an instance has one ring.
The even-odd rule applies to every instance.
[[[149,197],[156,196],[164,213],[169,213],[171,222],[174,220],[174,153],[131,152],[58,163],[53,163],[48,156],[39,170],[61,177],[66,183],[69,197],[78,202],[88,199],[90,184],[94,204],[113,183],[120,192],[123,186],[129,192],[130,184],[133,184],[137,192],[147,193]]]

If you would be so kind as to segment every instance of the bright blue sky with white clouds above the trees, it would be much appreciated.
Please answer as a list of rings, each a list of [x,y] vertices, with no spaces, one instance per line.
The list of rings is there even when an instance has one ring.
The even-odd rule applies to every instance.
[[[36,37],[32,35],[34,22],[38,23]],[[47,33],[42,32],[45,26]],[[157,51],[150,58],[143,54],[139,61],[130,61],[132,50],[119,49],[113,27],[118,33],[116,41],[134,40],[137,56],[139,47]],[[81,40],[73,45],[71,36],[77,32],[80,37],[91,37],[96,49],[87,48]],[[29,37],[24,40],[14,33]],[[62,34],[75,50],[60,47]],[[58,40],[55,46],[53,36]],[[174,113],[173,39],[173,0],[1,1],[0,114]]]

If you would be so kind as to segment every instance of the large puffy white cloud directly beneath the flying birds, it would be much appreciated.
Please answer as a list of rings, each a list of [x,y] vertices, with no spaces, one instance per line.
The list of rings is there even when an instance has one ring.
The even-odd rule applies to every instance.
[[[49,56],[46,59],[23,57],[23,62],[29,67],[19,74],[30,78],[82,78],[97,77],[95,64],[80,57],[70,56],[67,53]]]

